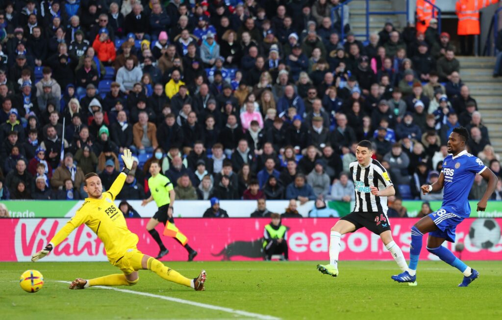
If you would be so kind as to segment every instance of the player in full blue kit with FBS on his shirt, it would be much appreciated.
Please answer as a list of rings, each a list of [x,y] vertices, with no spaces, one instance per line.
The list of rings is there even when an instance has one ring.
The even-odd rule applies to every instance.
[[[459,287],[466,287],[479,277],[479,272],[468,267],[455,255],[443,247],[443,242],[455,242],[455,229],[470,215],[467,195],[476,174],[488,180],[488,186],[482,199],[477,203],[477,211],[484,211],[486,203],[495,190],[497,177],[477,157],[467,153],[465,145],[469,134],[465,128],[453,129],[448,139],[449,155],[443,160],[443,167],[439,179],[432,185],[423,185],[424,194],[441,190],[444,186],[443,204],[432,214],[422,218],[411,228],[410,265],[408,270],[392,276],[398,282],[416,283],[417,264],[422,250],[422,237],[429,233],[427,251],[438,256],[441,260],[457,268],[464,278]]]

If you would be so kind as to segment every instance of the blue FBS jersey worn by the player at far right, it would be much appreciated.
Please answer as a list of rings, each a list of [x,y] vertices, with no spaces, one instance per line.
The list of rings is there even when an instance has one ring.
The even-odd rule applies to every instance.
[[[467,151],[460,152],[456,157],[449,154],[443,160],[441,172],[444,174],[443,205],[455,212],[458,217],[468,218],[470,215],[467,196],[472,187],[476,173],[481,174],[486,169],[483,162]]]

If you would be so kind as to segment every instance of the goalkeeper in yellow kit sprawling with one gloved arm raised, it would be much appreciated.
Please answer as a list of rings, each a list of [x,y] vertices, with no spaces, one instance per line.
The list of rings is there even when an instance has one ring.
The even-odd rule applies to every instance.
[[[84,190],[89,196],[77,210],[75,216],[51,239],[49,244],[32,256],[32,261],[35,262],[45,257],[74,229],[85,224],[103,242],[108,261],[123,273],[89,280],[78,278],[70,284],[70,289],[85,289],[95,285],[135,285],[140,280],[138,270],[145,269],[155,272],[163,279],[192,287],[197,291],[204,290],[206,280],[204,270],[197,278],[189,279],[166,267],[159,260],[141,253],[136,248],[138,236],[129,231],[126,220],[113,203],[133,166],[131,150],[124,150],[121,157],[124,168],[108,191],[102,192],[101,179],[97,174],[89,173],[85,176]]]

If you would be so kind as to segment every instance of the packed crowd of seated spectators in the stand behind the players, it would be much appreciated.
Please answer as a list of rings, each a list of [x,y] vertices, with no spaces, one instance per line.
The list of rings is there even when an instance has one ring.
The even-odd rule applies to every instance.
[[[130,148],[118,199],[147,197],[157,161],[179,199],[350,201],[367,139],[403,197],[441,199],[420,185],[458,126],[500,175],[437,21],[425,33],[388,22],[361,42],[339,3],[4,2],[0,198],[80,199],[94,171],[107,189]]]

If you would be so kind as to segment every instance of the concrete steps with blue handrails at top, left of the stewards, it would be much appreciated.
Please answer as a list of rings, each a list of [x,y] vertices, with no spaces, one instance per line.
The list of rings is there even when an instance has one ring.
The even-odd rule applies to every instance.
[[[356,35],[366,34],[366,1],[353,0],[348,4],[350,13],[350,27],[351,31]],[[369,9],[371,11],[393,11],[392,3],[387,0],[371,0],[369,2]],[[399,25],[397,15],[371,15],[369,16],[369,34],[373,32],[380,32],[385,23],[391,20],[396,29],[401,30],[402,26]],[[366,40],[363,36],[357,36],[358,40]]]

